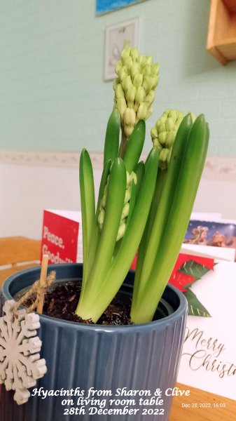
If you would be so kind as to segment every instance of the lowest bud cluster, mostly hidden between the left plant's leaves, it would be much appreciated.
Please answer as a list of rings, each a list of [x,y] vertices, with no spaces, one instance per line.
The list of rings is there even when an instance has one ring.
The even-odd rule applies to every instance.
[[[134,180],[134,184],[137,184],[137,175],[134,172],[130,174],[126,171],[125,200],[124,200],[123,211],[120,218],[120,227],[118,229],[116,241],[119,241],[120,239],[122,239],[122,237],[125,234],[127,216],[129,215],[129,210],[130,210],[130,194],[131,194],[132,180]],[[109,177],[107,178],[106,186],[104,188],[104,194],[102,196],[102,201],[100,203],[100,211],[97,218],[97,222],[99,224],[101,231],[104,224],[104,217],[105,217],[105,212],[106,212],[106,199],[107,199],[108,185],[109,185]]]

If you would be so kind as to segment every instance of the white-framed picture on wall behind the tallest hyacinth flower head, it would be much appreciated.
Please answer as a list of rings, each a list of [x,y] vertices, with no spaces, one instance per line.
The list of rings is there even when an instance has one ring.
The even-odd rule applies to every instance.
[[[104,57],[104,79],[106,81],[116,77],[116,62],[120,58],[125,41],[130,41],[130,46],[139,48],[139,26],[139,18],[135,18],[106,28]]]

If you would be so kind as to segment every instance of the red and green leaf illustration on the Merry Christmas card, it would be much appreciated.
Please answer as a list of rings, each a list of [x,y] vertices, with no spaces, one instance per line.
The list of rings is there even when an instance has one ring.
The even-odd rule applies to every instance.
[[[176,261],[169,283],[181,290],[186,296],[188,300],[188,314],[191,316],[211,316],[190,287],[209,270],[213,269],[214,259],[211,258],[180,254]]]

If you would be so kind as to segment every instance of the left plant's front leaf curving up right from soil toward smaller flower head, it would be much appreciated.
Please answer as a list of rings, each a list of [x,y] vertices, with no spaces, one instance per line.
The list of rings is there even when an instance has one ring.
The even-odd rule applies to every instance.
[[[127,272],[130,269],[130,265],[132,264],[132,260],[134,258],[135,253],[139,247],[139,243],[141,241],[141,236],[144,232],[144,227],[146,225],[146,219],[148,218],[148,213],[151,206],[151,201],[153,198],[153,192],[155,189],[155,178],[158,171],[158,161],[159,161],[159,154],[158,149],[153,147],[150,154],[150,159],[148,160],[148,165],[145,169],[144,180],[141,183],[141,188],[139,191],[139,195],[137,196],[137,201],[135,204],[134,211],[132,213],[132,218],[130,218],[130,222],[127,225],[127,229],[125,230],[125,235],[123,236],[122,243],[116,255],[116,258],[113,259],[111,267],[109,271],[106,272],[106,276],[102,276],[103,282],[101,280],[101,265],[97,268],[97,276],[96,281],[99,283],[99,289],[92,292],[92,296],[88,297],[86,302],[85,311],[87,312],[90,319],[93,321],[97,321],[99,316],[104,312],[106,307],[111,302],[112,298],[118,292],[120,286],[127,275]],[[113,165],[114,166],[114,165]],[[113,167],[112,170],[113,171]],[[125,173],[125,180],[126,180],[126,173]],[[111,178],[109,179],[109,184],[111,182]],[[125,181],[126,185],[126,181]],[[114,198],[117,194],[113,194]],[[123,205],[122,205],[123,206]],[[106,209],[107,213],[108,209]],[[117,206],[116,206],[117,211]],[[111,217],[114,218],[115,210],[112,210]],[[105,215],[106,220],[106,215]],[[105,225],[104,220],[104,225]],[[105,226],[103,228],[103,231]],[[106,241],[107,243],[107,241]],[[108,249],[111,247],[108,246]],[[103,260],[104,260],[103,256]],[[102,262],[103,263],[103,262]],[[98,273],[99,272],[99,273]],[[104,275],[104,274],[103,274]],[[99,276],[99,279],[98,279]],[[90,281],[90,279],[89,279]],[[81,316],[80,309],[76,309],[76,314]],[[83,319],[88,319],[87,314],[83,313],[81,317]],[[86,317],[87,316],[87,317]]]

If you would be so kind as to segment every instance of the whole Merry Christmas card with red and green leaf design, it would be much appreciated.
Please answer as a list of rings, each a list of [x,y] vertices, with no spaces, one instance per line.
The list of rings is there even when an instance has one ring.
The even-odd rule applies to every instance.
[[[178,381],[236,399],[236,263],[181,254],[169,282],[188,300]]]

